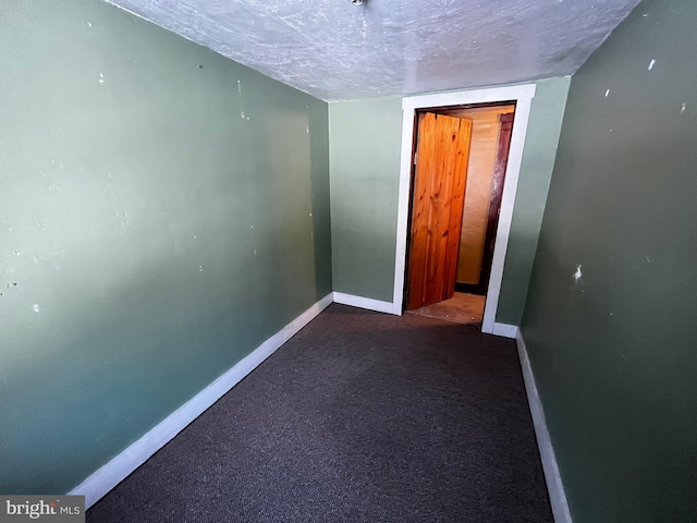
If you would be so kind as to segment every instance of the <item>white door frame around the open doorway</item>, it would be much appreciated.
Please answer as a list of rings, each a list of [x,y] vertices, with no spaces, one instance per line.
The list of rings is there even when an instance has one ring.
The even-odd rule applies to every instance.
[[[491,275],[487,289],[487,301],[484,309],[481,331],[492,333],[500,330],[494,327],[501,280],[503,279],[503,263],[509,246],[513,205],[521,173],[523,146],[527,121],[530,115],[530,105],[535,97],[535,84],[515,85],[509,87],[492,87],[488,89],[463,90],[456,93],[441,93],[435,95],[412,96],[402,100],[402,161],[400,167],[400,193],[398,204],[396,252],[394,256],[394,294],[392,299],[392,314],[402,314],[404,299],[404,269],[406,264],[406,240],[409,228],[409,190],[412,178],[412,145],[414,139],[414,117],[417,109],[429,107],[463,106],[468,104],[489,104],[514,100],[515,120],[511,134],[509,163],[503,183],[501,212],[497,228]]]

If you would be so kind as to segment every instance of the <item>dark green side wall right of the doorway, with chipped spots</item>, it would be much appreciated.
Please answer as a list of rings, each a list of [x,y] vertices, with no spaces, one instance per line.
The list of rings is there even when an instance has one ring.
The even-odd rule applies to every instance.
[[[575,523],[697,521],[696,29],[640,3],[568,95],[522,330]]]

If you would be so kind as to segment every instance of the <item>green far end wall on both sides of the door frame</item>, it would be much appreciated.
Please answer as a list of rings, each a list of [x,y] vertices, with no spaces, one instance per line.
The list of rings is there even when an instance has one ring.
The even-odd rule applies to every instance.
[[[518,325],[570,78],[535,82],[497,321]],[[329,105],[334,290],[392,302],[402,98]]]

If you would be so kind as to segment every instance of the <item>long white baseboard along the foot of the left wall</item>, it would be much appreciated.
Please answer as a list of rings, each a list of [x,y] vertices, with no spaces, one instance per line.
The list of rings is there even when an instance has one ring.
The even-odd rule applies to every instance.
[[[332,293],[322,297],[68,494],[85,496],[86,509],[95,504],[327,308],[332,299]]]

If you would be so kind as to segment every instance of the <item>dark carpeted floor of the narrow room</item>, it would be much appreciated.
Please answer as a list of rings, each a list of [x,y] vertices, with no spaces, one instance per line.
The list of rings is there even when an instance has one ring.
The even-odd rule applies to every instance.
[[[334,304],[87,521],[553,520],[513,341]]]

